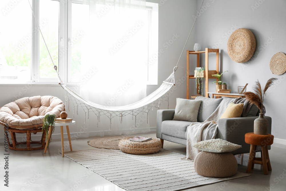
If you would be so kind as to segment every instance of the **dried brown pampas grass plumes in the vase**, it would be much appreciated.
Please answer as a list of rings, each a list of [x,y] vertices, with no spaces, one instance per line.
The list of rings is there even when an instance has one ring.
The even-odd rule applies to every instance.
[[[266,113],[265,107],[263,105],[264,95],[265,95],[265,92],[267,91],[267,89],[273,85],[275,80],[277,80],[277,78],[270,78],[266,82],[265,88],[263,89],[263,91],[261,89],[261,84],[260,84],[259,80],[257,80],[255,82],[255,86],[253,88],[255,93],[253,93],[253,92],[244,92],[243,93],[245,95],[246,100],[249,101],[250,104],[254,104],[258,107],[258,109],[260,110],[260,113]]]

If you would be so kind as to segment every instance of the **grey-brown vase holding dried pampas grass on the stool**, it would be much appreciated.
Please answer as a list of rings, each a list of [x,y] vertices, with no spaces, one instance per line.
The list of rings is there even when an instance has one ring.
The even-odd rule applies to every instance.
[[[267,135],[268,134],[268,121],[264,118],[264,114],[266,113],[265,107],[263,105],[264,95],[267,89],[273,85],[273,82],[277,80],[277,78],[270,78],[265,85],[263,91],[261,90],[260,82],[257,80],[255,82],[255,87],[253,88],[254,92],[243,92],[246,97],[246,100],[249,101],[250,104],[254,104],[260,110],[259,118],[254,120],[254,133],[259,135]]]

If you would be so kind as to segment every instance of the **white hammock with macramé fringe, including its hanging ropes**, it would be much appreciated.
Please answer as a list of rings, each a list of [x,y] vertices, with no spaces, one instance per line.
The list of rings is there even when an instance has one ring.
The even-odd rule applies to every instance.
[[[202,4],[203,3],[204,3],[204,0],[202,1]],[[30,6],[31,6],[31,4],[30,4]],[[202,8],[202,5],[200,6],[200,9],[201,8]],[[31,6],[31,9],[32,9],[32,6]],[[37,23],[37,26],[39,27],[39,24],[37,22],[37,19],[35,17],[33,9],[32,9],[32,12],[33,12],[35,21]],[[200,10],[198,11],[198,13],[199,12],[200,12]],[[196,16],[196,19],[197,19],[197,17],[198,17],[198,14]],[[194,27],[194,24],[196,23],[196,19],[193,23],[192,29]],[[190,31],[190,34],[192,32],[192,29]],[[39,31],[41,33],[41,36],[43,37],[43,34],[42,34],[40,27],[39,27]],[[186,40],[184,48],[186,47],[186,44],[187,44],[188,39],[190,37],[190,34]],[[44,37],[43,37],[43,41],[45,43],[45,46],[47,47],[47,44],[45,42]],[[181,52],[180,58],[182,56],[184,48]],[[47,51],[49,53],[49,56],[51,57],[51,54],[50,54],[48,48],[47,48]],[[69,110],[70,103],[73,104],[74,114],[75,114],[75,109],[76,109],[76,113],[78,114],[78,107],[81,107],[85,112],[84,123],[86,123],[86,114],[88,114],[87,119],[89,119],[89,113],[93,112],[97,116],[97,126],[98,126],[98,122],[100,121],[100,116],[106,115],[110,119],[110,129],[111,129],[111,119],[113,117],[116,117],[116,116],[120,117],[121,123],[122,123],[124,116],[132,115],[132,119],[133,119],[133,116],[135,116],[135,127],[137,127],[136,126],[136,116],[141,112],[143,113],[143,115],[144,115],[144,113],[147,113],[147,123],[148,123],[148,112],[150,111],[150,109],[153,110],[154,107],[159,108],[162,101],[168,101],[168,99],[169,99],[169,93],[168,92],[172,88],[172,86],[175,85],[174,84],[174,81],[175,81],[174,80],[174,73],[176,72],[177,68],[180,67],[180,66],[178,66],[180,58],[177,62],[177,65],[174,67],[174,71],[172,72],[172,74],[170,74],[170,76],[165,81],[163,81],[162,85],[157,90],[155,90],[153,93],[151,93],[150,95],[148,95],[147,97],[145,97],[144,99],[142,99],[136,103],[133,103],[130,105],[125,105],[125,106],[118,106],[118,107],[108,107],[108,106],[99,105],[99,104],[93,103],[93,102],[81,97],[79,94],[77,94],[76,92],[74,92],[73,90],[68,88],[65,85],[65,83],[63,83],[63,81],[61,80],[59,73],[57,71],[57,66],[53,63],[52,58],[51,58],[51,61],[53,63],[53,67],[54,67],[55,71],[57,72],[59,84],[65,90],[65,105],[67,105],[67,102],[68,102],[68,110]],[[180,67],[180,68],[182,68],[182,67]],[[168,102],[168,109],[169,109],[169,102]]]

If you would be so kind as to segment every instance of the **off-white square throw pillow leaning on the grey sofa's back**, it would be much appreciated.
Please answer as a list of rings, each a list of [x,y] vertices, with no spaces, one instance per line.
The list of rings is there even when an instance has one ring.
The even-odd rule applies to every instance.
[[[173,120],[198,122],[198,110],[202,100],[177,98]]]

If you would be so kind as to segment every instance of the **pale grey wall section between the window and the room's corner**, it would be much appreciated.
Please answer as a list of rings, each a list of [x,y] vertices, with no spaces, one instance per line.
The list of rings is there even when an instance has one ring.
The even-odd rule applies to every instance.
[[[196,11],[195,0],[148,0],[150,2],[159,3],[159,42],[158,49],[163,49],[158,58],[158,86],[173,72],[176,66],[184,44],[190,33],[194,20],[191,19]],[[163,4],[164,3],[164,4]],[[178,36],[177,40],[168,46],[166,42],[172,42],[174,35]],[[183,51],[182,57],[175,72],[175,86],[170,90],[169,109],[175,109],[176,98],[186,98],[186,50],[193,50],[195,39],[195,27],[190,35]],[[147,95],[152,93],[158,86],[147,88]],[[190,84],[190,88],[194,88],[194,82]],[[167,109],[166,103],[162,104],[160,109]],[[149,113],[150,127],[156,127],[157,109]]]

